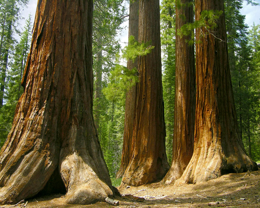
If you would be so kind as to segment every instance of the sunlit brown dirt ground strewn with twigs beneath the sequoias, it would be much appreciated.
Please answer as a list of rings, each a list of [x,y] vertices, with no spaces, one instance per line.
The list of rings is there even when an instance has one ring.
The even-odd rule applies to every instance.
[[[144,202],[116,197],[120,208],[146,207],[230,207],[260,208],[260,170],[250,173],[231,173],[200,184],[180,187],[161,186],[159,183],[120,189],[121,194],[144,197]],[[240,198],[245,198],[241,200]],[[209,206],[210,202],[219,204]],[[24,202],[26,203],[26,201]],[[24,207],[24,205],[2,205],[2,207]],[[28,200],[27,208],[108,208],[115,207],[105,202],[90,205],[68,205],[64,196],[46,196]]]

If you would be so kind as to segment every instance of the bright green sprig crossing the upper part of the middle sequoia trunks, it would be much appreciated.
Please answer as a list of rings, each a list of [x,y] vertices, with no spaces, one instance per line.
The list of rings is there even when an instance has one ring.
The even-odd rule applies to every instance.
[[[154,46],[151,41],[146,43],[138,43],[134,36],[129,36],[128,45],[122,50],[123,58],[134,61],[136,57],[145,56],[151,52]]]

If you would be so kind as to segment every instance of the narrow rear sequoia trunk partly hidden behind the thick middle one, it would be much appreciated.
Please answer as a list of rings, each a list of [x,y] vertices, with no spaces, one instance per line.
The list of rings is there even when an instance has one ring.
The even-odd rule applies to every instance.
[[[138,20],[139,20],[139,1],[130,1],[129,5],[129,30],[128,36],[134,36],[135,39],[138,38]],[[132,70],[138,67],[137,59],[133,62],[131,60],[127,61],[127,68]],[[124,127],[124,139],[123,139],[123,149],[122,158],[119,171],[116,173],[116,178],[123,177],[125,170],[129,164],[131,158],[131,145],[133,139],[133,128],[134,128],[134,116],[136,107],[136,85],[133,86],[126,93],[126,105],[125,105],[125,127]]]

